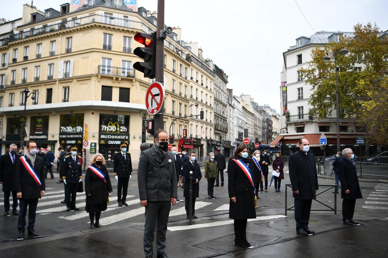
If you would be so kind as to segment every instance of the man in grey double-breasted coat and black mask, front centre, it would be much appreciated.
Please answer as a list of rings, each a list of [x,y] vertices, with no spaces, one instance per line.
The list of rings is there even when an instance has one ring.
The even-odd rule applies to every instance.
[[[139,184],[140,204],[145,207],[144,253],[152,258],[154,229],[156,232],[157,258],[165,254],[166,231],[171,204],[177,203],[177,174],[173,155],[168,151],[168,134],[158,130],[154,134],[152,148],[140,154],[137,181]]]

